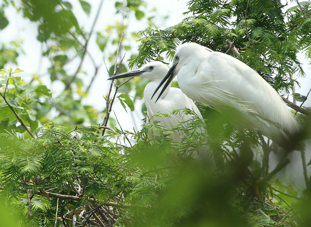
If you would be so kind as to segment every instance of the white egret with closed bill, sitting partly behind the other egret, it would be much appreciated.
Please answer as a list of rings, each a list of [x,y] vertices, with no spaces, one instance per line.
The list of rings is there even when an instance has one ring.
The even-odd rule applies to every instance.
[[[151,80],[151,82],[146,85],[144,90],[144,101],[147,108],[147,121],[149,119],[151,122],[160,121],[159,125],[162,125],[167,129],[172,129],[176,124],[179,124],[183,121],[189,121],[193,117],[191,115],[184,114],[182,111],[180,111],[178,114],[170,114],[173,110],[185,108],[192,110],[199,118],[202,119],[202,115],[194,102],[188,98],[179,88],[171,87],[171,82],[167,84],[161,95],[159,95],[158,102],[154,103],[151,101],[151,95],[153,91],[156,89],[168,71],[169,67],[164,63],[159,61],[152,61],[144,64],[137,70],[110,77],[109,80],[133,76]],[[170,115],[170,117],[153,117],[156,113],[166,113]],[[179,125],[179,127],[185,128],[185,125]],[[175,142],[181,142],[184,136],[184,133],[178,131],[169,137]]]

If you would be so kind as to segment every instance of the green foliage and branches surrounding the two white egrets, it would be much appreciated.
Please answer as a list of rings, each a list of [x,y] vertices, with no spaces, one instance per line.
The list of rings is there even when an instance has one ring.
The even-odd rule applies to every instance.
[[[16,74],[22,70],[8,66],[23,54],[21,43],[2,44],[0,198],[2,206],[17,214],[19,226],[54,226],[55,222],[56,226],[97,226],[101,222],[120,227],[309,226],[310,187],[300,200],[293,183],[276,177],[277,169],[265,169],[265,142],[256,132],[230,125],[230,111],[221,116],[198,103],[204,120],[188,109],[175,110],[171,115],[182,111],[191,119],[167,129],[151,118],[141,130],[123,131],[121,125],[121,129],[114,127],[111,119],[107,124],[109,116],[104,118],[93,106],[83,104],[92,84],[85,86],[83,79],[91,69],[95,78],[100,68],[87,49],[92,34],[98,50],[108,59],[110,75],[116,68],[118,73],[127,70],[124,63],[118,63],[125,51],[132,51],[133,39],[140,45],[138,55],[129,61],[131,68],[151,60],[163,61],[164,56],[170,60],[183,42],[225,52],[225,40],[229,39],[241,52],[240,60],[276,90],[288,91],[292,86],[288,74],[303,73],[298,51],[311,56],[310,2],[283,13],[284,5],[274,0],[251,0],[248,10],[247,0],[188,0],[187,17],[160,30],[144,1],[119,0],[115,10],[121,20],[101,31],[82,28],[73,14],[73,4],[90,17],[91,4],[82,0],[26,0],[19,6],[5,0],[0,10],[3,31],[10,26],[5,14],[8,5],[36,22],[37,39],[43,43],[40,55],[49,62],[48,80],[63,87],[56,95],[42,82],[42,75],[33,74],[30,82],[24,80],[22,74]],[[123,33],[131,16],[146,22],[146,29]],[[93,65],[83,69],[86,58]],[[77,62],[80,64],[73,64]],[[125,110],[134,111],[137,99],[132,101],[127,94],[134,90],[134,96],[142,98],[146,80],[115,83],[121,94],[104,95],[105,100],[99,100],[103,108],[106,102],[111,108],[117,98]],[[155,116],[170,117],[163,113]],[[98,126],[101,118],[106,124]],[[305,127],[294,142],[284,142],[288,144],[285,158],[295,143],[310,136],[308,120],[302,117],[302,121]],[[100,136],[97,130],[102,127],[106,131]],[[177,143],[170,138],[174,133],[186,136]],[[1,220],[8,224],[1,222],[0,226],[16,225],[11,217]]]

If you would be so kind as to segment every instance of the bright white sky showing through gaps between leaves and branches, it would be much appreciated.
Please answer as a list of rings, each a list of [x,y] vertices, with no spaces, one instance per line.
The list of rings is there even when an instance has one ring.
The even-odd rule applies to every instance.
[[[188,0],[145,0],[148,4],[148,9],[152,9],[154,7],[157,8],[157,18],[159,18],[159,24],[162,24],[160,29],[164,29],[168,26],[173,26],[177,23],[179,23],[185,16],[182,14],[183,12],[187,11],[186,3]],[[79,24],[82,27],[85,27],[87,31],[90,30],[92,21],[95,17],[95,13],[97,11],[97,6],[99,5],[100,0],[92,0],[92,8],[91,8],[91,16],[87,17],[85,13],[81,10],[81,7],[79,4],[77,4],[78,1],[76,0],[70,0],[69,2],[72,2],[73,4],[73,12],[75,15],[80,15],[77,19]],[[120,17],[117,17],[115,15],[115,7],[114,7],[115,1],[111,0],[104,0],[104,4],[100,13],[100,17],[97,21],[97,24],[95,26],[95,32],[96,31],[103,31],[104,28],[109,25],[114,25],[115,20],[120,20]],[[289,2],[289,4],[295,4]],[[40,62],[40,53],[41,53],[41,44],[39,41],[37,41],[37,25],[34,23],[30,23],[29,20],[25,20],[22,18],[21,14],[16,13],[10,13],[15,12],[15,9],[10,7],[8,10],[6,10],[6,16],[8,17],[8,20],[10,21],[10,24],[7,28],[5,28],[3,31],[0,32],[2,42],[8,42],[10,40],[16,40],[16,39],[23,39],[23,49],[25,51],[25,55],[20,55],[18,58],[18,67],[22,70],[24,70],[23,73],[20,75],[25,79],[31,78],[33,73],[39,73],[43,77],[44,83],[52,90],[54,94],[57,94],[60,91],[60,86],[63,87],[62,83],[53,83],[50,84],[48,77],[49,75],[46,73],[46,69],[49,66],[48,61]],[[169,15],[169,19],[164,21],[163,17],[165,15]],[[128,28],[126,32],[130,33],[132,31],[140,31],[143,30],[146,27],[146,25],[142,24],[142,22],[135,22],[134,18],[130,18],[128,20]],[[137,45],[137,44],[133,44]],[[102,63],[103,61],[103,54],[100,51],[97,51],[97,46],[95,43],[95,35],[92,36],[88,50],[93,54],[93,57],[95,58],[95,61],[97,64]],[[96,52],[97,51],[97,52]],[[126,53],[124,59],[128,59],[132,53]],[[303,63],[303,69],[306,73],[306,78],[299,78],[299,82],[301,84],[301,88],[296,88],[296,92],[300,93],[302,95],[306,95],[310,89],[311,86],[311,70],[310,65],[308,65],[306,59],[304,59],[302,54],[299,54],[299,60]],[[106,61],[107,63],[108,61]],[[90,67],[91,65],[91,67]],[[7,66],[8,68],[10,66]],[[75,65],[77,67],[77,64]],[[72,67],[70,69],[72,72],[76,70],[75,67]],[[84,64],[82,65],[83,69],[87,71],[88,76],[85,76],[83,81],[86,85],[88,85],[91,76],[93,75],[93,69],[91,61],[86,59]],[[295,76],[295,75],[294,75]],[[44,77],[46,79],[44,79]],[[103,65],[100,68],[100,71],[98,73],[97,78],[95,79],[95,82],[93,83],[91,87],[91,92],[89,97],[87,97],[83,102],[88,105],[95,106],[98,110],[103,110],[105,106],[105,101],[103,99],[103,95],[108,92],[108,87],[110,82],[106,81],[108,78],[108,73],[106,72],[105,66]],[[290,97],[291,100],[291,97]],[[298,102],[299,103],[299,102]],[[311,106],[311,97],[305,102],[305,106]],[[134,112],[135,121],[136,124],[132,125],[131,121],[129,121],[128,117],[129,114],[132,115],[133,113],[126,113],[121,105],[119,105],[118,102],[114,103],[114,110],[116,111],[118,120],[120,121],[120,124],[122,125],[123,129],[125,130],[132,130],[132,127],[135,126],[135,128],[139,127],[139,125],[142,124],[142,121],[140,119],[143,118],[142,113],[140,113],[141,106],[136,106],[136,110]],[[124,126],[123,126],[124,125]]]

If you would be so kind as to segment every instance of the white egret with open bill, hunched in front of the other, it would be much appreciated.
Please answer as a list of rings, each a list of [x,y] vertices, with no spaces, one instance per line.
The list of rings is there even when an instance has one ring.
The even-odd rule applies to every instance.
[[[196,43],[181,45],[153,96],[166,81],[161,95],[176,75],[183,93],[215,108],[238,129],[259,131],[278,144],[299,129],[278,93],[257,72],[228,54]]]

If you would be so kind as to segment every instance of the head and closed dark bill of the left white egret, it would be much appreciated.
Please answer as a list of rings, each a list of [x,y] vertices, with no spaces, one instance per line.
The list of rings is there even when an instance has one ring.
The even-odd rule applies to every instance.
[[[152,61],[144,64],[141,68],[121,73],[115,76],[110,77],[108,80],[114,80],[119,78],[126,78],[126,77],[141,77],[141,78],[147,78],[151,81],[155,80],[162,80],[167,71],[169,70],[169,67],[159,61]]]

